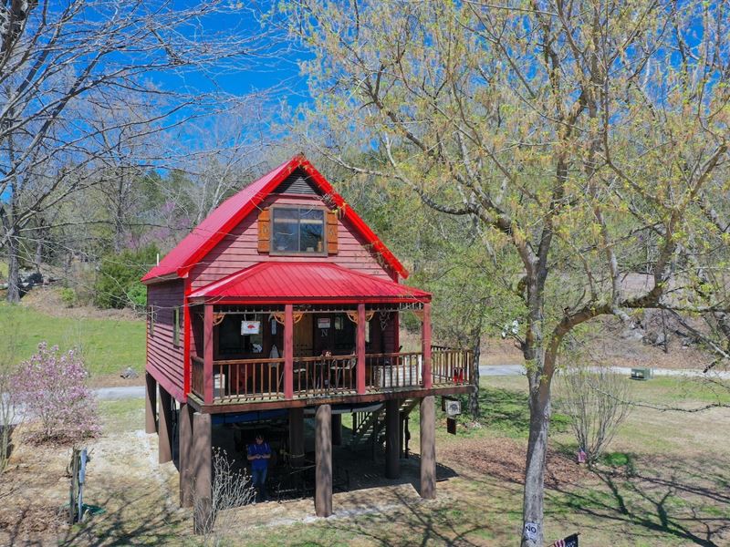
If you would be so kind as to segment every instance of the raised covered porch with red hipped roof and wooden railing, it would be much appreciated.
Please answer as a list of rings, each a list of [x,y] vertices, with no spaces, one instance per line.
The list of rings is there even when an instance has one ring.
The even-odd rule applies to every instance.
[[[264,263],[190,297],[189,395],[205,405],[468,384],[471,354],[433,347],[431,295],[330,263]],[[421,345],[402,351],[402,314]]]

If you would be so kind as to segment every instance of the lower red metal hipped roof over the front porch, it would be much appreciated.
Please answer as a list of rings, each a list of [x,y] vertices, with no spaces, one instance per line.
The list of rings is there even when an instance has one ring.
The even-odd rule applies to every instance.
[[[257,263],[190,294],[226,302],[429,302],[431,294],[334,263]]]

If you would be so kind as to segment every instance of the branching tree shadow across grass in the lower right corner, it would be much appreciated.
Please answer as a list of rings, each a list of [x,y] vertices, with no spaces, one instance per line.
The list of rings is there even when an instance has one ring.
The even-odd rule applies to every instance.
[[[592,474],[605,490],[556,489],[566,495],[572,511],[641,526],[696,545],[728,544],[727,470],[716,461],[641,462],[621,452],[606,455],[603,462]]]

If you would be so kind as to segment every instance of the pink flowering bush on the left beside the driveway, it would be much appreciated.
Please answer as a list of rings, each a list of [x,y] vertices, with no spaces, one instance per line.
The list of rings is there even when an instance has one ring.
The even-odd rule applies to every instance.
[[[99,434],[96,402],[86,385],[89,372],[75,349],[61,353],[46,342],[24,361],[14,388],[16,404],[42,430],[37,440],[77,440]]]

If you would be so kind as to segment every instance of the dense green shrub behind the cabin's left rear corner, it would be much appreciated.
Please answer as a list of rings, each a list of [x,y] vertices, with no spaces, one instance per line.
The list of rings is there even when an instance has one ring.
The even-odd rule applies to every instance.
[[[104,257],[94,284],[94,304],[101,308],[144,308],[147,292],[140,278],[154,265],[157,253],[157,247],[149,245]]]

